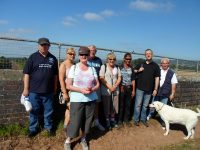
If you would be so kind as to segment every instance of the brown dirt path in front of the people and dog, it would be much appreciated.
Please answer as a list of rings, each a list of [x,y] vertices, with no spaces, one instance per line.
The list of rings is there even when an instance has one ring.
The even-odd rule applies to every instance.
[[[184,130],[181,126],[172,126],[168,136],[156,120],[150,120],[149,127],[123,127],[102,133],[92,129],[90,134],[90,150],[150,150],[158,146],[184,142]],[[200,139],[200,122],[195,129],[195,139]],[[64,132],[55,137],[45,138],[41,135],[34,139],[13,137],[1,139],[0,150],[63,150]],[[78,142],[73,143],[74,150],[81,150]]]

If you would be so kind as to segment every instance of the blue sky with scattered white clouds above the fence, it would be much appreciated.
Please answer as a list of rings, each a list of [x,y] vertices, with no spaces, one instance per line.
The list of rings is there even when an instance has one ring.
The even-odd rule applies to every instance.
[[[200,0],[0,0],[0,37],[199,60]]]

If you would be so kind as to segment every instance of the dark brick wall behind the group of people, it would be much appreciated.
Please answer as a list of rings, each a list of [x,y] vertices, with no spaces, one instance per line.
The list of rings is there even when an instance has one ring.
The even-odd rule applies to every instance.
[[[23,90],[22,76],[21,70],[0,70],[0,125],[24,123],[28,120],[28,113],[20,104]],[[179,83],[174,103],[179,106],[200,105],[199,78],[178,77]],[[61,106],[55,107],[55,112],[62,109]],[[64,117],[63,112],[58,113],[58,116]]]

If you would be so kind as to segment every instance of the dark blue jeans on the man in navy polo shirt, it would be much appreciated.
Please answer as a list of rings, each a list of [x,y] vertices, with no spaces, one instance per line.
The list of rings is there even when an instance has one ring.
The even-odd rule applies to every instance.
[[[44,128],[52,130],[53,128],[53,93],[51,94],[38,94],[29,93],[29,100],[32,104],[32,110],[30,112],[30,124],[29,131],[37,132],[39,127],[39,116],[41,109],[44,109]]]

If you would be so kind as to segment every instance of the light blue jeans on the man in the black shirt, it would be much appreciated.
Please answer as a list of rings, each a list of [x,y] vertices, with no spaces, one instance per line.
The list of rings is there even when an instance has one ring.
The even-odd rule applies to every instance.
[[[147,107],[151,99],[151,92],[145,92],[139,89],[136,89],[135,97],[135,109],[133,120],[135,122],[146,121],[147,120]]]

